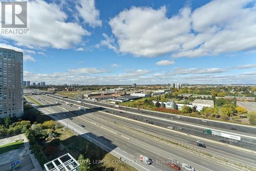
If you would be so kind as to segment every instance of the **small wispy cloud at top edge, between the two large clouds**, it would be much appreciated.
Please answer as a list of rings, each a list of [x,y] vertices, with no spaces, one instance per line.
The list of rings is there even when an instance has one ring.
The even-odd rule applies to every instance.
[[[92,27],[101,26],[99,10],[95,8],[94,0],[81,0],[76,6],[76,9],[85,23],[88,23]]]

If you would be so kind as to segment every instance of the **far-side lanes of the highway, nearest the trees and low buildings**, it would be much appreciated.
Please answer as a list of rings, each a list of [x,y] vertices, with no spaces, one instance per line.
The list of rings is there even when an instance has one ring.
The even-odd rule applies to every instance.
[[[127,118],[133,118],[133,119],[144,121],[144,122],[146,119],[147,120],[146,122],[153,122],[154,125],[159,125],[162,127],[173,126],[174,129],[182,128],[183,129],[182,132],[184,133],[199,136],[202,138],[211,139],[211,140],[219,141],[221,137],[213,137],[213,136],[208,136],[203,134],[203,131],[205,131],[206,129],[218,130],[224,133],[238,135],[242,137],[241,138],[242,141],[239,142],[238,144],[234,143],[232,145],[243,147],[251,151],[254,151],[256,149],[256,136],[255,136],[256,128],[253,126],[229,124],[229,123],[218,122],[218,121],[202,122],[201,121],[202,119],[196,119],[197,122],[202,123],[202,124],[197,124],[197,123],[190,123],[188,121],[184,121],[184,120],[190,119],[190,117],[185,117],[185,116],[177,117],[177,115],[165,114],[165,113],[159,113],[159,112],[148,113],[148,111],[144,111],[144,110],[138,110],[133,108],[126,109],[123,106],[120,106],[120,108],[115,108],[113,104],[101,103],[101,102],[89,101],[89,100],[82,100],[82,103],[77,103],[75,99],[70,99],[70,98],[63,99],[62,96],[59,96],[59,95],[49,95],[49,97],[53,97],[53,98],[59,97],[64,101],[76,103],[76,104],[83,104],[83,106],[86,106],[88,108],[92,108],[92,106],[102,106],[103,108],[100,109],[101,111],[112,112],[115,115],[124,116]],[[217,124],[217,126],[212,126],[215,124]],[[230,128],[234,128],[236,129],[236,131],[230,130]],[[248,130],[247,133],[245,133],[245,130]]]

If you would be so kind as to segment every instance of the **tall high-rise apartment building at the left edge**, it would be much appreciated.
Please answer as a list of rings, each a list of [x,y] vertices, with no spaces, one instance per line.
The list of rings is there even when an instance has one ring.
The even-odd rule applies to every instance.
[[[23,52],[0,48],[0,117],[23,115]]]

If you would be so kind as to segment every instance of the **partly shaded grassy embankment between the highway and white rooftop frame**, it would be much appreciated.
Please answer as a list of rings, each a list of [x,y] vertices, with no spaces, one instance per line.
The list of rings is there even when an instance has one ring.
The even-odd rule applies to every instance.
[[[52,120],[47,115],[41,114],[39,111],[33,109],[35,113],[37,113],[37,123],[42,123],[47,120]],[[41,120],[41,122],[40,122]],[[57,123],[57,122],[56,122]],[[135,171],[134,167],[130,166],[129,164],[125,163],[115,163],[115,161],[119,161],[119,159],[112,154],[104,151],[104,149],[100,148],[99,146],[93,144],[92,142],[88,141],[85,138],[81,138],[71,131],[65,129],[63,126],[59,126],[57,129],[54,130],[57,137],[55,139],[60,139],[59,145],[56,145],[55,152],[53,155],[47,155],[45,153],[45,156],[47,159],[53,160],[61,155],[64,155],[66,153],[70,153],[73,157],[78,159],[80,154],[84,155],[84,158],[89,158],[91,161],[91,170],[97,170],[97,171],[103,171],[103,170],[115,170],[115,171]],[[44,149],[49,147],[51,144],[51,141],[45,141],[43,143]],[[102,160],[102,161],[108,161],[105,163],[100,164],[93,164],[93,161],[95,160]],[[113,161],[113,162],[112,162]],[[44,163],[40,163],[43,165]]]

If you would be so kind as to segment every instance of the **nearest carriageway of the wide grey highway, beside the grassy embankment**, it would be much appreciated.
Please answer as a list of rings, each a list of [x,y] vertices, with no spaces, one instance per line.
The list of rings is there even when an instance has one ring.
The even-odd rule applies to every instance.
[[[127,130],[122,130],[120,127],[116,127],[116,125],[111,125],[109,122],[104,123],[104,120],[100,119],[101,114],[97,114],[98,112],[95,112],[95,115],[92,115],[93,112],[84,113],[83,111],[76,111],[75,107],[67,106],[67,105],[54,105],[54,100],[44,97],[44,96],[33,96],[33,98],[38,100],[38,97],[41,99],[41,103],[48,105],[51,104],[51,110],[54,113],[65,113],[66,116],[63,116],[62,114],[57,114],[54,117],[58,116],[61,119],[63,118],[70,118],[72,117],[73,120],[68,120],[68,122],[72,121],[75,122],[77,125],[86,124],[86,129],[90,131],[91,133],[95,134],[96,136],[101,136],[103,134],[103,137],[106,139],[104,141],[108,142],[108,140],[112,141],[112,144],[117,146],[117,148],[122,148],[124,150],[124,153],[128,153],[132,156],[134,156],[135,159],[138,158],[139,154],[146,155],[148,157],[151,157],[153,161],[157,161],[157,156],[160,155],[160,157],[163,157],[162,160],[169,160],[169,159],[177,159],[189,163],[191,165],[194,165],[198,170],[235,170],[234,168],[225,168],[226,166],[219,166],[218,164],[211,163],[210,161],[202,160],[202,157],[195,157],[195,155],[184,152],[181,149],[177,149],[176,147],[167,145],[165,143],[160,143],[157,140],[154,140],[152,138],[148,138],[142,135],[136,135],[137,133],[131,133]],[[42,100],[44,98],[45,100]],[[66,110],[67,109],[67,110]],[[72,112],[68,112],[72,111]],[[81,116],[82,115],[82,116]],[[63,118],[62,118],[63,117]],[[90,122],[87,123],[87,120],[83,119],[83,117],[87,117],[87,119],[92,120],[93,122],[100,123],[104,125],[104,127],[95,126],[94,124],[91,124]],[[60,119],[59,118],[59,119]],[[69,124],[69,123],[68,123]],[[90,126],[88,126],[90,125]],[[106,128],[107,127],[107,128]],[[113,131],[110,131],[113,130]],[[108,130],[108,131],[106,131]],[[120,138],[115,131],[118,130],[118,132],[122,135],[124,135],[126,138],[129,137],[130,140],[126,138]],[[139,145],[137,145],[139,143]],[[124,146],[125,144],[125,146]],[[142,148],[144,148],[142,150]],[[139,153],[138,153],[139,152]],[[161,154],[159,154],[161,152]],[[168,157],[170,156],[170,157]],[[200,161],[200,162],[199,162]],[[202,162],[201,162],[202,161]],[[209,163],[210,162],[210,163]],[[204,163],[204,164],[202,164]],[[167,164],[153,164],[154,167],[159,168],[161,170],[168,170],[169,166]],[[151,166],[152,167],[152,166]],[[224,167],[224,168],[221,168]]]

